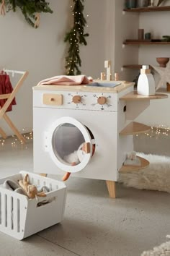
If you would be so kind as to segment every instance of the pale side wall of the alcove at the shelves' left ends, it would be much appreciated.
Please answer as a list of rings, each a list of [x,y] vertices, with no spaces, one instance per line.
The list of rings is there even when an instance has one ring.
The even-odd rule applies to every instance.
[[[115,1],[115,72],[120,74],[120,80],[132,81],[134,70],[121,68],[125,64],[138,63],[138,48],[122,47],[126,39],[136,38],[138,34],[139,17],[136,13],[122,12],[124,0]]]

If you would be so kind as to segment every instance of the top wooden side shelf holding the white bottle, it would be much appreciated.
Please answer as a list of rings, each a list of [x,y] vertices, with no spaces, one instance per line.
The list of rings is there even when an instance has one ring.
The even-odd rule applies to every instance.
[[[120,98],[120,101],[143,101],[143,100],[156,100],[156,99],[163,99],[163,98],[168,98],[168,95],[163,94],[163,93],[156,93],[155,95],[151,96],[145,96],[145,95],[140,95],[136,91],[133,91],[132,93],[128,93],[125,96],[122,96]]]

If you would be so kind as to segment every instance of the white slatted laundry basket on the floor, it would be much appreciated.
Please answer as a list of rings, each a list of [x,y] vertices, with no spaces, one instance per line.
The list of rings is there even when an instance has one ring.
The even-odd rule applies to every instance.
[[[3,187],[6,179],[18,182],[26,174],[29,174],[30,184],[50,189],[46,197],[29,199]],[[44,204],[44,200],[48,202]],[[22,240],[60,223],[63,220],[65,205],[66,185],[63,182],[27,171],[0,179],[0,231],[16,239]]]

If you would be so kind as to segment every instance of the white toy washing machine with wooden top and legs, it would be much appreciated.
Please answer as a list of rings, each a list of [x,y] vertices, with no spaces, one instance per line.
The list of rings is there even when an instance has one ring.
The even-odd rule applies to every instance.
[[[133,83],[38,85],[33,88],[34,171],[71,173],[107,181],[115,197],[118,171],[132,138],[120,139],[125,127],[123,95]]]

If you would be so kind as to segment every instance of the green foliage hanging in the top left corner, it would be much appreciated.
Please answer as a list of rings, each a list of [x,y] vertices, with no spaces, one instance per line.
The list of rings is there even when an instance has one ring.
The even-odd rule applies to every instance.
[[[53,11],[49,7],[49,3],[45,0],[0,0],[1,4],[1,14],[13,10],[16,12],[17,7],[21,9],[22,14],[25,17],[25,20],[32,25],[32,27],[38,27],[40,23],[40,12],[49,12]]]

